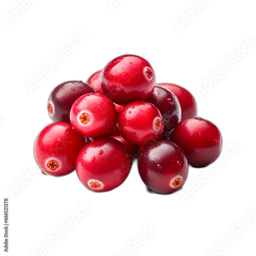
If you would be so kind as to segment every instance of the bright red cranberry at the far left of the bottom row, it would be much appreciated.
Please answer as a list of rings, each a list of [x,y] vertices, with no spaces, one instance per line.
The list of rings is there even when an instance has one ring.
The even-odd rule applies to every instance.
[[[75,169],[76,158],[84,145],[84,137],[70,123],[54,122],[47,125],[35,140],[35,161],[44,174],[66,175]]]

